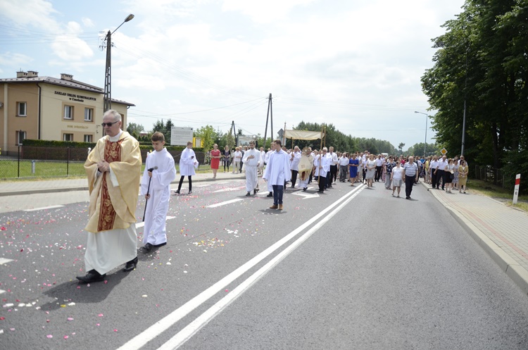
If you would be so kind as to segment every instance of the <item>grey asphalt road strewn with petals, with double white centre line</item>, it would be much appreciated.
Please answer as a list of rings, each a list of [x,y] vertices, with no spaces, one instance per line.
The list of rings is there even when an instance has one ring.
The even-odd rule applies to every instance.
[[[87,194],[4,197],[0,349],[528,349],[526,296],[445,208],[375,186],[288,190],[279,212],[195,184],[167,246],[91,285]],[[60,207],[22,211],[41,204]]]

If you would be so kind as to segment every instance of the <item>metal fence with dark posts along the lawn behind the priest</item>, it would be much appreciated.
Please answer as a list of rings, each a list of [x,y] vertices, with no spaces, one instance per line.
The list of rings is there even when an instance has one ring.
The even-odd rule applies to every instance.
[[[142,149],[143,163],[149,149]],[[30,177],[85,176],[84,161],[89,149],[63,147],[18,146],[0,154],[0,179]],[[169,151],[175,163],[180,162],[182,151]],[[196,152],[196,159],[203,164],[205,154]]]

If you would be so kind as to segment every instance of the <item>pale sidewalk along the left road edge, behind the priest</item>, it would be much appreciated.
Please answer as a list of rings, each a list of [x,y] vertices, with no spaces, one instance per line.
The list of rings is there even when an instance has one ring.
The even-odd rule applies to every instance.
[[[260,176],[260,175],[259,175]],[[192,182],[203,181],[222,181],[232,179],[245,179],[244,173],[232,174],[218,171],[216,179],[213,179],[213,173],[197,173],[193,175]],[[180,174],[176,175],[176,180],[172,184],[180,182]],[[187,183],[185,177],[184,184]],[[88,190],[88,181],[86,178],[61,178],[54,180],[16,180],[16,181],[0,181],[0,196],[15,196],[18,194],[34,194],[34,193],[52,193],[52,192],[67,192],[67,191],[82,191]]]

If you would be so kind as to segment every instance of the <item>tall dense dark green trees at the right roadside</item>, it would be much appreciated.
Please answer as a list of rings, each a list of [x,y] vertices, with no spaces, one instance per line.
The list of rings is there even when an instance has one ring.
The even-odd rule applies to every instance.
[[[465,111],[464,156],[510,174],[528,170],[508,163],[528,159],[527,18],[525,0],[467,0],[433,40],[434,66],[422,76],[439,144],[461,149]]]

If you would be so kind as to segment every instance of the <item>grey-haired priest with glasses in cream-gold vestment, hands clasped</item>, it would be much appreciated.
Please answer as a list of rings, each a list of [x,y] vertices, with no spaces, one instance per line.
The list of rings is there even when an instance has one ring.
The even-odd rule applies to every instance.
[[[90,194],[88,232],[82,282],[101,281],[108,271],[126,263],[137,265],[136,216],[142,156],[139,142],[121,130],[121,115],[106,111],[101,137],[88,155],[84,170]]]

